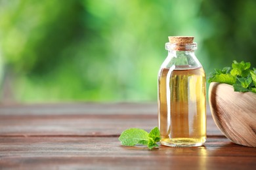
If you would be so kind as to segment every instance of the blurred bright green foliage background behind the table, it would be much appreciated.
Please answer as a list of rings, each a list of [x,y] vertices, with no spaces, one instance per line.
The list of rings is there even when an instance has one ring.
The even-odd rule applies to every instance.
[[[0,0],[1,102],[156,101],[170,35],[256,67],[256,1]]]

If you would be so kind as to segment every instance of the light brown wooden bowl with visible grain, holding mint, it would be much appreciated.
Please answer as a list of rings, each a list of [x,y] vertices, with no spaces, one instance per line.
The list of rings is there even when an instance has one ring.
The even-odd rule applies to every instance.
[[[215,124],[228,139],[256,147],[256,93],[234,92],[229,84],[211,82],[209,104]]]

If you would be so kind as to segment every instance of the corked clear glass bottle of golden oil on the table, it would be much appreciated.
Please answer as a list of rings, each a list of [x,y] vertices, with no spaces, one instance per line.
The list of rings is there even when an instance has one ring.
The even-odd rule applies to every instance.
[[[194,37],[169,37],[158,73],[158,124],[165,146],[201,146],[206,140],[205,72]]]

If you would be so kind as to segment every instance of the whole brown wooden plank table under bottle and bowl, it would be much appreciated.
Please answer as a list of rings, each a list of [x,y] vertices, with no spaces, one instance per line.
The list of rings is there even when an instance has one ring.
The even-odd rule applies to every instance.
[[[207,111],[193,148],[121,146],[129,127],[158,125],[156,103],[0,106],[0,169],[256,169],[256,148],[231,143]]]

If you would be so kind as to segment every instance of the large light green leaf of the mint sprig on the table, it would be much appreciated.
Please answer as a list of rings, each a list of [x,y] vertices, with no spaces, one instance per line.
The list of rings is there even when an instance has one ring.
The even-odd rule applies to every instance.
[[[135,144],[148,144],[148,132],[138,128],[127,129],[121,133],[119,136],[119,141],[125,146],[134,146]]]

